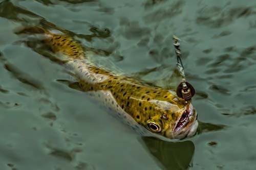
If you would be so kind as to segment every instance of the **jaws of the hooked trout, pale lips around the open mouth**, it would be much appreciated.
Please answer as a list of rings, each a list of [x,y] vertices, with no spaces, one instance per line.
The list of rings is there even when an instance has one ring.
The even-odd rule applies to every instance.
[[[165,132],[166,137],[171,139],[182,139],[196,134],[198,128],[197,112],[192,104],[189,104],[188,108],[189,111],[185,118],[183,118],[181,114],[175,126],[169,126],[169,129]],[[182,122],[180,121],[181,119]]]

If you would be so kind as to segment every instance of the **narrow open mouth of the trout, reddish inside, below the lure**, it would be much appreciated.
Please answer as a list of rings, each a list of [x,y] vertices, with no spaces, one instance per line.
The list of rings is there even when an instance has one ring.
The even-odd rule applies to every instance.
[[[180,116],[180,119],[174,128],[174,132],[177,133],[183,127],[185,127],[189,122],[191,122],[191,120],[194,117],[195,112],[196,111],[193,109],[193,106],[191,104],[189,104],[188,109],[184,110],[182,115]]]

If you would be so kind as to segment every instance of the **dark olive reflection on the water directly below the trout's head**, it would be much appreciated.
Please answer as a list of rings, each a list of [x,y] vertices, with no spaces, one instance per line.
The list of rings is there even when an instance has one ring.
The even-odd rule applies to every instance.
[[[144,147],[164,169],[188,169],[195,152],[192,141],[169,142],[154,137],[141,137]]]

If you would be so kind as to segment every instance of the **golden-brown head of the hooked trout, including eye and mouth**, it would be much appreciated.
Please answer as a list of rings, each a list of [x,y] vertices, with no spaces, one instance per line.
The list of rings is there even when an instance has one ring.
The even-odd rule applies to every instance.
[[[144,126],[153,133],[170,139],[181,139],[195,135],[198,127],[197,112],[191,103],[175,94],[170,98],[158,98],[147,101],[154,110],[144,119]]]

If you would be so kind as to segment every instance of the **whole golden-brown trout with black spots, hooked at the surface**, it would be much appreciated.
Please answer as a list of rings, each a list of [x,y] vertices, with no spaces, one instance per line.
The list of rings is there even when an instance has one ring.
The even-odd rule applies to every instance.
[[[93,63],[93,54],[73,37],[40,26],[25,27],[17,34],[41,34],[54,53],[67,59],[74,71],[79,89],[89,93],[121,118],[135,131],[162,139],[194,136],[198,114],[190,102],[174,90],[156,87],[116,74]]]

